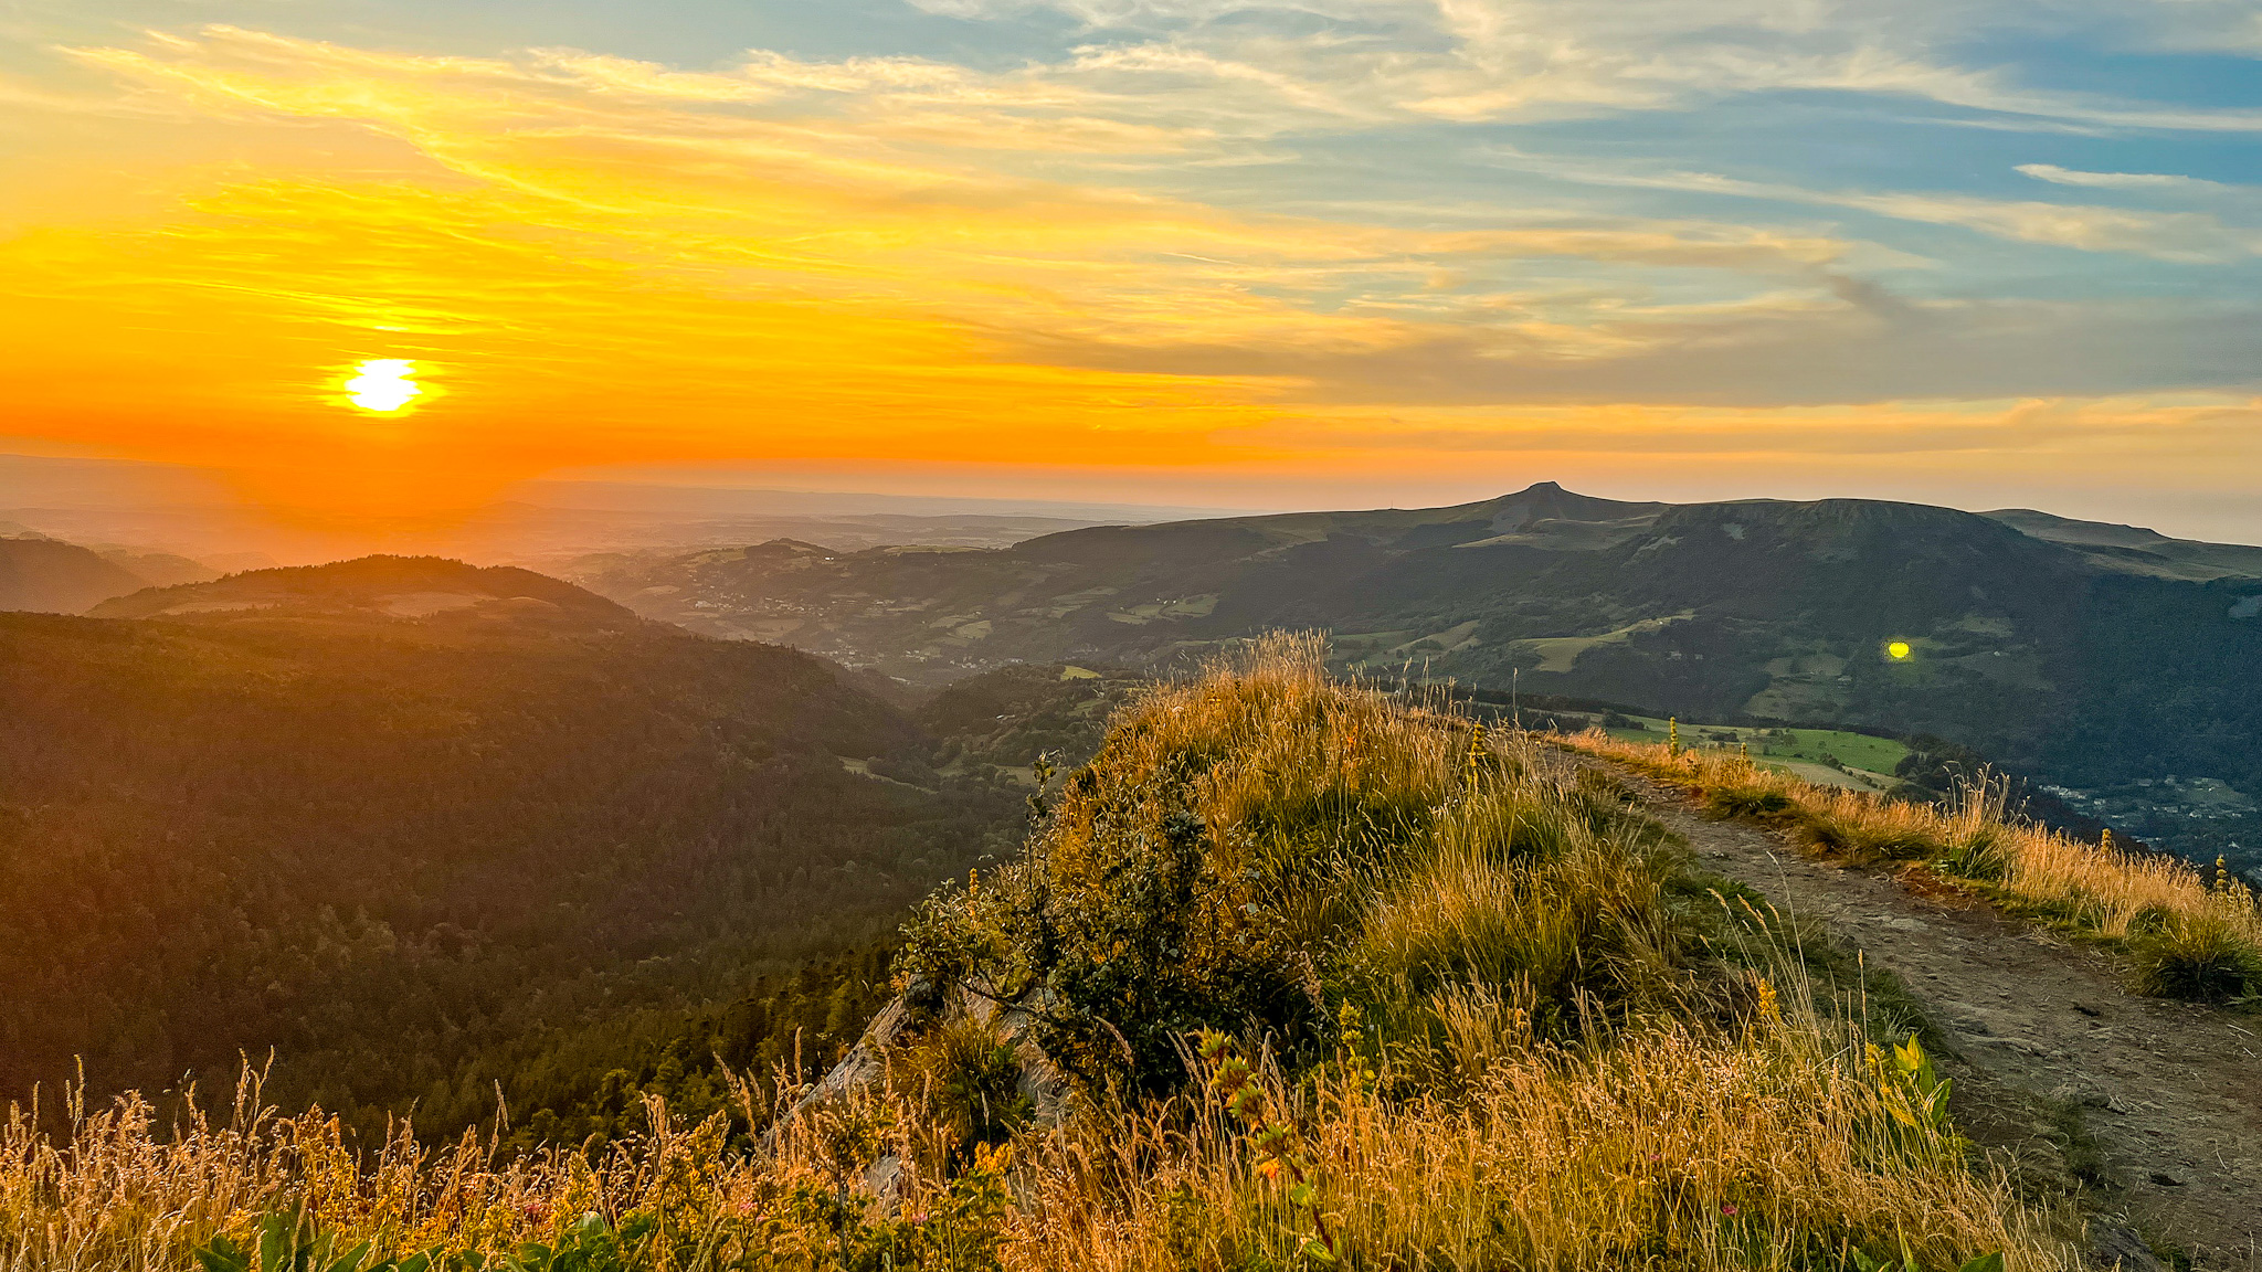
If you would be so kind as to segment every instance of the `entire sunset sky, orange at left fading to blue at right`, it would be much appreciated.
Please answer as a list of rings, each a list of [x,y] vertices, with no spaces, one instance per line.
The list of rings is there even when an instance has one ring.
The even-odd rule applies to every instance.
[[[11,0],[0,450],[2262,541],[2262,2]]]

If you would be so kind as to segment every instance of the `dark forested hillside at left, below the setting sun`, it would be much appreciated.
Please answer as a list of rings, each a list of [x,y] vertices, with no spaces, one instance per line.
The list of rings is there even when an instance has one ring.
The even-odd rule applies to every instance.
[[[932,774],[934,740],[808,654],[523,570],[267,575],[0,618],[7,1098],[72,1055],[95,1093],[224,1086],[271,1046],[285,1107],[448,1129],[869,942],[1020,815],[851,772]]]

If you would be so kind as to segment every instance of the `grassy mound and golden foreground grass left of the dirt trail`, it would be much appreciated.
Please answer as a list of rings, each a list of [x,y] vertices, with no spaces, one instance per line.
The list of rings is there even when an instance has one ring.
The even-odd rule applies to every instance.
[[[215,1125],[18,1114],[0,1270],[2077,1265],[1764,910],[1321,654],[1129,706],[907,928],[873,1082],[516,1157],[500,1118],[355,1152],[256,1086]]]

